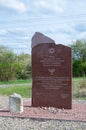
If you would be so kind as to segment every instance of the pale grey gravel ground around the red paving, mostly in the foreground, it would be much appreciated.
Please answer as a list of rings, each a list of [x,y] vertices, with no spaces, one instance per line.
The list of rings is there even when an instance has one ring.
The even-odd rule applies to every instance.
[[[8,97],[0,96],[0,109],[7,106]],[[0,130],[86,130],[86,122],[0,117]]]

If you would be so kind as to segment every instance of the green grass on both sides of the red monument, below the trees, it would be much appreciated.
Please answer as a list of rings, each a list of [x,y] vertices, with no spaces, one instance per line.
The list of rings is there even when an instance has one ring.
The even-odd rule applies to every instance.
[[[22,97],[31,97],[32,93],[32,80],[16,80],[9,82],[0,82],[2,84],[13,84],[13,87],[0,88],[1,95],[11,95],[13,93],[18,93]],[[28,86],[25,86],[28,83]],[[16,86],[17,84],[17,86]],[[18,86],[22,84],[23,86]],[[86,77],[84,78],[73,78],[72,83],[73,99],[84,99],[86,100]]]

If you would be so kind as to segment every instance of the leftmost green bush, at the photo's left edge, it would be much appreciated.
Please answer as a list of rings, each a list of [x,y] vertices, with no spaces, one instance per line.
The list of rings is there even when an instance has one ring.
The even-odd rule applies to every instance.
[[[4,47],[3,47],[4,48]],[[0,48],[0,80],[8,81],[15,79],[16,70],[18,69],[17,55],[12,51],[2,47]]]

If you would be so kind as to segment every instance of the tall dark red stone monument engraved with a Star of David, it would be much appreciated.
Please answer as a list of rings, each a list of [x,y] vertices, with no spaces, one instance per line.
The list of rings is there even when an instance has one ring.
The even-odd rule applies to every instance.
[[[32,37],[32,106],[72,108],[71,48],[41,33]]]

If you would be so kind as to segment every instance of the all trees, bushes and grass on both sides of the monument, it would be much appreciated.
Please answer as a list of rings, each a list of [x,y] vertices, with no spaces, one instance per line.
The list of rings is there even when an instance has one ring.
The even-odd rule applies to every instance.
[[[70,47],[74,77],[73,98],[86,99],[86,40],[76,40]],[[17,55],[0,46],[0,85],[14,84],[12,87],[0,87],[0,94],[10,95],[17,92],[23,97],[31,97],[31,77],[31,56],[24,53]],[[22,84],[22,87],[19,84]]]

